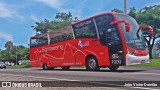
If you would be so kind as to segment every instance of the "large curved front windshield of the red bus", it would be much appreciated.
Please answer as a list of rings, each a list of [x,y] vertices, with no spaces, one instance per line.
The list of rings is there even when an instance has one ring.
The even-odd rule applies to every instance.
[[[139,36],[137,37],[137,31],[139,29],[139,25],[136,22],[136,20],[130,16],[123,15],[123,14],[117,14],[117,18],[119,20],[126,20],[130,23],[130,31],[126,32],[124,24],[121,23],[121,28],[125,37],[126,44],[134,49],[137,50],[145,50],[147,48],[143,34],[140,30]]]

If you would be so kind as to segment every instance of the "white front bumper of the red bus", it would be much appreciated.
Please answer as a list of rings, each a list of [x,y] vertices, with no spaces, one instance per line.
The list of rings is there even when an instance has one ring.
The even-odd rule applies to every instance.
[[[126,55],[126,65],[136,65],[150,63],[149,55],[147,56],[133,56],[130,54]]]

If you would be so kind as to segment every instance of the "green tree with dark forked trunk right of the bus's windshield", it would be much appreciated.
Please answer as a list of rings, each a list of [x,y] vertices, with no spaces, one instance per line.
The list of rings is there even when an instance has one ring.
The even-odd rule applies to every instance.
[[[160,37],[160,5],[142,8],[136,13],[136,20],[140,25],[150,25],[153,27],[154,35],[145,35],[145,41],[149,48],[150,58],[152,58],[152,49],[155,44],[155,40]],[[143,33],[146,33],[145,31],[143,31]]]

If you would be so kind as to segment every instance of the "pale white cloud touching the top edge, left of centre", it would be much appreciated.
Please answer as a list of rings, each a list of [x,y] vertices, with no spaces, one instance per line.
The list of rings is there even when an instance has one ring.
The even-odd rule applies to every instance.
[[[60,9],[60,7],[62,5],[59,0],[35,0],[35,1],[44,3],[50,7],[58,9],[58,10]]]

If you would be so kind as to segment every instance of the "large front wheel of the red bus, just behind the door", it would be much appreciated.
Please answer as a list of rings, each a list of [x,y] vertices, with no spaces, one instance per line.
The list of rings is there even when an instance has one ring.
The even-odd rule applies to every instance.
[[[87,58],[86,62],[86,70],[89,71],[98,71],[100,68],[98,66],[98,61],[94,56],[90,56]]]

